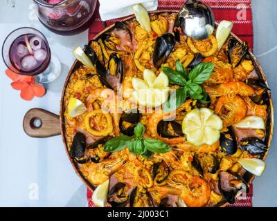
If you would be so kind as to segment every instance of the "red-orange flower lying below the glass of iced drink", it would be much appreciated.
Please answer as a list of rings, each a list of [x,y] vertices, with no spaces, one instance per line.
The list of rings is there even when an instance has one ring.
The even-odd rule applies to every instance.
[[[35,84],[33,76],[17,75],[12,70],[7,69],[6,75],[12,79],[12,88],[15,90],[21,90],[20,97],[26,101],[36,97],[42,97],[45,95],[45,88],[39,84]]]

